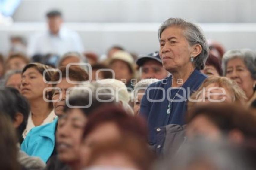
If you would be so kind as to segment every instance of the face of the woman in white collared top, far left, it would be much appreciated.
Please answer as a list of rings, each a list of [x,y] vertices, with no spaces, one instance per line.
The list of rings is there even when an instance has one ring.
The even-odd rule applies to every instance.
[[[42,74],[33,67],[21,76],[21,94],[28,100],[43,98],[44,89],[51,86],[43,81]]]

